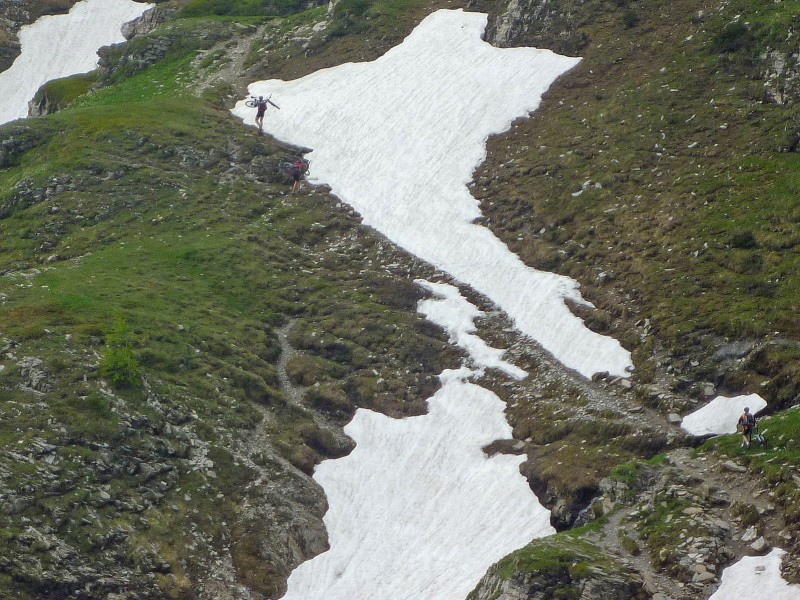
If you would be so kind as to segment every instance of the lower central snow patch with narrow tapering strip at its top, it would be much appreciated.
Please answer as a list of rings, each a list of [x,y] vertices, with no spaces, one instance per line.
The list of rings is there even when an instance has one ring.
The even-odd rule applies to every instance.
[[[418,283],[437,296],[420,311],[466,341],[480,369],[515,369],[471,336],[480,311],[456,288]],[[519,472],[524,457],[482,450],[511,428],[503,402],[467,381],[477,372],[442,373],[423,416],[356,412],[345,427],[356,448],[314,473],[328,498],[331,549],[292,572],[284,600],[463,600],[491,564],[554,533]]]

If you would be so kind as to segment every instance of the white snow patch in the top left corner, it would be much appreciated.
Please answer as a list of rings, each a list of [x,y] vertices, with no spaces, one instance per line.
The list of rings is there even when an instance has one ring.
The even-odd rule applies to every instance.
[[[152,4],[84,0],[69,14],[41,17],[20,30],[22,52],[0,73],[0,125],[28,116],[28,102],[48,81],[97,67],[97,50],[124,42],[123,24]]]

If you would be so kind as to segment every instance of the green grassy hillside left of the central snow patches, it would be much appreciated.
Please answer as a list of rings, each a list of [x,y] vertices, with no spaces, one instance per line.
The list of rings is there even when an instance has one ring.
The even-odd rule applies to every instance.
[[[248,507],[319,519],[298,473],[347,450],[325,423],[418,414],[447,364],[412,260],[325,190],[287,195],[296,150],[189,91],[196,47],[0,129],[3,597],[194,597],[220,552],[274,596],[311,542],[281,555],[292,519]]]

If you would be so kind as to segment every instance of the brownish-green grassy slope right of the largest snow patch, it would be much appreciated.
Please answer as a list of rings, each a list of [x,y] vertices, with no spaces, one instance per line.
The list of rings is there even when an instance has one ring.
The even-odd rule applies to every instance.
[[[607,314],[594,326],[621,326],[644,381],[665,348],[689,378],[792,404],[799,117],[775,101],[791,69],[776,70],[774,53],[791,51],[797,3],[553,10],[580,34],[562,49],[585,58],[490,146],[475,188],[490,226],[528,263],[582,283]],[[513,41],[558,46],[559,26]],[[643,347],[630,326],[645,318]],[[731,340],[763,350],[744,365],[712,359]]]

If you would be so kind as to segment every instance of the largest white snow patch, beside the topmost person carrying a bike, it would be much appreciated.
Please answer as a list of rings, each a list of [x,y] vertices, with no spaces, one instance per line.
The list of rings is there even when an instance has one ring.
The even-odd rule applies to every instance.
[[[272,95],[264,129],[314,149],[314,180],[331,186],[367,225],[491,298],[516,327],[585,376],[627,376],[630,354],[585,327],[564,303],[584,302],[566,277],[527,267],[474,223],[467,188],[489,135],[527,116],[577,64],[534,48],[481,40],[486,15],[442,10],[369,63],[349,63],[295,81],[254,83]],[[252,123],[240,102],[234,114]]]

